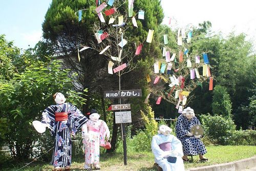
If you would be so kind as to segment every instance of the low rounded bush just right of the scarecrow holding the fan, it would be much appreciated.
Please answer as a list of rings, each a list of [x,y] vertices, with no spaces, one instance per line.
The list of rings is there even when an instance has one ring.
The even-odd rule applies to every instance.
[[[201,115],[200,116],[205,133],[222,145],[232,143],[232,133],[236,125],[230,117]]]

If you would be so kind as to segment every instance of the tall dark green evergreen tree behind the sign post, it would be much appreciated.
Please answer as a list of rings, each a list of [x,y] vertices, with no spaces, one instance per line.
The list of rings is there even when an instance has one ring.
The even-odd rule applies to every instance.
[[[102,11],[105,21],[109,22],[109,17],[104,14],[105,10],[116,8],[120,15],[125,16],[128,14],[128,5],[128,1],[115,1],[112,7],[106,7]],[[93,49],[87,49],[79,53],[80,62],[77,58],[78,48],[80,50],[80,47],[83,46],[97,45],[97,39],[94,36],[96,30],[104,31],[107,27],[113,27],[112,25],[101,23],[95,9],[95,1],[53,0],[46,14],[45,22],[42,25],[44,37],[54,45],[55,52],[62,56],[65,66],[78,74],[75,80],[77,90],[89,88],[89,96],[84,97],[88,99],[87,106],[83,110],[84,112],[93,107],[90,102],[93,100],[93,97],[103,98],[104,90],[119,90],[118,76],[108,74],[110,56],[106,56],[107,54],[99,55],[94,50],[96,48],[92,46]],[[78,22],[78,10],[82,10],[80,22]],[[143,20],[137,19],[139,10],[145,11]],[[116,14],[113,14],[113,16],[115,16],[115,20],[118,19]],[[149,29],[155,30],[154,37],[157,36],[157,26],[160,25],[163,19],[161,4],[158,0],[135,1],[133,16],[136,17],[138,28],[133,26],[131,17],[126,17],[125,25],[118,27],[118,32],[119,29],[125,31],[124,38],[128,41],[125,49],[130,54],[134,54],[136,47],[144,43]],[[98,28],[95,30],[95,27]],[[110,34],[103,41],[112,41],[112,36],[114,35]],[[118,36],[120,40],[120,34]],[[143,86],[146,84],[145,75],[147,69],[152,64],[152,61],[154,61],[154,56],[160,54],[160,50],[157,48],[158,41],[155,40],[157,39],[153,38],[151,44],[143,44],[141,55],[136,56],[134,63],[129,63],[130,67],[136,66],[137,69],[133,69],[122,76],[122,90],[142,89],[143,94],[146,94],[144,93],[146,90]],[[103,46],[101,50],[102,48]],[[113,50],[115,50],[114,47]],[[119,51],[114,51],[112,56],[118,57],[118,53]],[[134,99],[131,101],[135,104],[132,112],[139,114],[140,107],[143,106],[143,100]],[[102,106],[103,108],[105,107],[104,104]],[[104,112],[103,108],[102,112]],[[116,126],[116,124],[114,123],[113,126]],[[113,130],[117,131],[117,127],[113,127]],[[116,138],[116,133],[113,136]],[[115,147],[115,143],[112,144]]]

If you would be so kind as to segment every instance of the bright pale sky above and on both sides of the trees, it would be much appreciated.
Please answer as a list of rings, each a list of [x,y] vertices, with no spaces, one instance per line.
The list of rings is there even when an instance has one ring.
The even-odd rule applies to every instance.
[[[8,41],[13,40],[18,48],[34,47],[41,39],[41,24],[51,2],[0,0],[0,34],[5,34]],[[213,32],[221,31],[224,36],[232,31],[244,32],[256,45],[256,10],[252,0],[162,0],[161,4],[165,15],[163,24],[168,24],[167,17],[177,20],[170,27],[198,26],[209,20]]]

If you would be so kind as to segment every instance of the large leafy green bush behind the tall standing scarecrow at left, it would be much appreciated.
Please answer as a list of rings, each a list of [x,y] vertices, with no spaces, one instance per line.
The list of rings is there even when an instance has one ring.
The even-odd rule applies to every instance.
[[[0,79],[0,114],[1,123],[4,124],[0,127],[0,141],[10,147],[12,158],[20,161],[36,155],[33,151],[39,153],[49,149],[32,148],[40,141],[41,136],[34,130],[32,121],[40,120],[42,110],[53,104],[54,93],[67,94],[68,101],[77,107],[85,102],[81,98],[82,93],[72,90],[72,78],[75,75],[69,75],[70,70],[61,69],[61,61],[51,58],[47,58],[46,62],[33,61],[26,56],[24,60],[24,72],[14,73],[10,81],[2,83]],[[7,127],[8,130],[3,130],[2,127]]]

